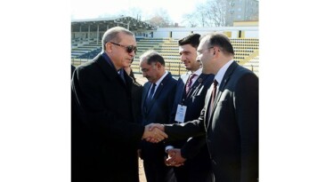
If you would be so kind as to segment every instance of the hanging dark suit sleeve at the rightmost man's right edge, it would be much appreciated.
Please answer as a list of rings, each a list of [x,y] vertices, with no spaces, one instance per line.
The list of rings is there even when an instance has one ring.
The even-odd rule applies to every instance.
[[[235,90],[234,105],[240,129],[241,181],[258,178],[258,78],[243,75]]]

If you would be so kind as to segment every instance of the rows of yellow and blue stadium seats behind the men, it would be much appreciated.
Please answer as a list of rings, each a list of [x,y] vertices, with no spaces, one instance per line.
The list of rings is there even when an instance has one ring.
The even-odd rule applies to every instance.
[[[258,75],[259,39],[258,38],[231,38],[235,51],[234,60],[243,67],[247,67]],[[139,67],[139,57],[144,51],[158,51],[166,61],[166,68],[172,75],[179,76],[186,73],[178,52],[178,39],[173,38],[142,38],[137,40],[138,51],[131,67],[134,74],[142,74]],[[71,40],[71,62],[78,66],[93,59],[100,51],[102,44],[96,41]]]

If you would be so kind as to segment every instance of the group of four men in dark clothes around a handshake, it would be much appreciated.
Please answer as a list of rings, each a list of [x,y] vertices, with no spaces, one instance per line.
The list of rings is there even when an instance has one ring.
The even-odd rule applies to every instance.
[[[233,60],[221,33],[179,40],[188,70],[176,80],[145,51],[137,83],[134,33],[108,29],[102,52],[71,67],[72,181],[258,181],[258,77]]]

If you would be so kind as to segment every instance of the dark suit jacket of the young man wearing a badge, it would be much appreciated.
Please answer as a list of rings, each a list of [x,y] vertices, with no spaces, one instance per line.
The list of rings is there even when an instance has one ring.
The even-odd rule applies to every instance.
[[[178,79],[172,112],[173,123],[175,123],[175,115],[178,105],[186,106],[184,122],[191,121],[199,117],[200,111],[204,107],[207,90],[210,88],[211,83],[213,83],[214,77],[214,75],[199,75],[196,82],[192,84],[191,90],[187,95],[185,93],[185,84],[189,78],[189,74],[182,75]],[[187,139],[188,138],[177,140],[171,143],[171,145],[177,148],[182,148]],[[191,171],[210,170],[210,157],[207,151],[206,138],[202,136],[198,138],[190,138],[190,140],[192,139],[201,141],[201,147],[197,147],[197,150],[193,150],[192,148],[182,148],[183,157],[188,159],[185,162],[185,165],[189,166]]]

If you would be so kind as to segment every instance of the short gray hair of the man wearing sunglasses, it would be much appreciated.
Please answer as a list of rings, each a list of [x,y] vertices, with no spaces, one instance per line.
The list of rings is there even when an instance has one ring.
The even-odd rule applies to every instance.
[[[118,36],[119,33],[126,34],[128,36],[134,36],[134,33],[130,30],[122,27],[114,27],[106,30],[104,35],[102,36],[102,51],[105,51],[107,43],[110,41],[114,41],[119,43],[121,41],[121,37]]]

